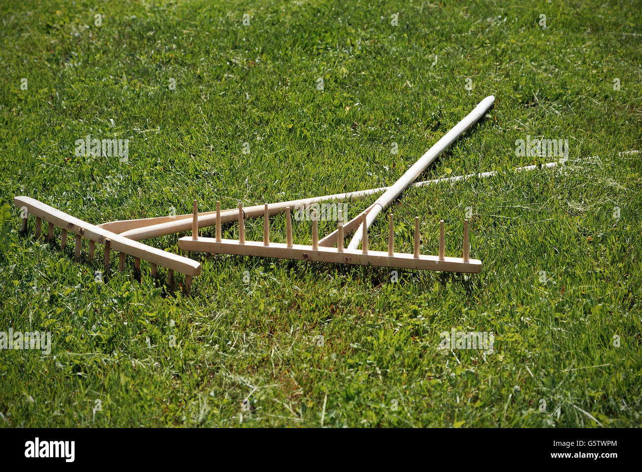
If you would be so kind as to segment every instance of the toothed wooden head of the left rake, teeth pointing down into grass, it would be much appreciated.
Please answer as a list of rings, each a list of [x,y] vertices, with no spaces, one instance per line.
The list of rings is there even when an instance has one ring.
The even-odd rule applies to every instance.
[[[195,275],[200,275],[201,265],[197,261],[192,259],[184,258],[183,256],[178,256],[177,254],[172,254],[164,250],[157,249],[152,246],[148,246],[137,241],[130,240],[119,234],[116,234],[111,231],[107,231],[103,228],[100,228],[96,225],[84,222],[70,214],[64,213],[54,207],[51,207],[47,204],[39,202],[34,198],[30,197],[15,197],[13,203],[18,208],[23,209],[22,214],[22,228],[26,229],[26,220],[30,214],[36,217],[36,237],[40,237],[40,232],[42,231],[42,220],[45,220],[49,223],[48,227],[48,239],[53,238],[53,227],[57,226],[62,228],[64,243],[67,240],[67,234],[73,233],[76,235],[75,239],[75,248],[74,248],[74,258],[78,260],[80,258],[80,252],[82,251],[82,238],[89,239],[89,258],[91,259],[94,256],[94,247],[96,243],[105,245],[105,271],[109,267],[109,253],[110,250],[116,250],[121,253],[119,256],[119,265],[123,267],[125,261],[125,254],[134,256],[134,267],[137,271],[140,270],[141,259],[149,261],[152,264],[152,274],[157,274],[157,266],[167,267],[169,274],[173,274],[174,271],[185,274],[186,283],[185,288],[189,293],[189,284],[191,283],[191,277]]]

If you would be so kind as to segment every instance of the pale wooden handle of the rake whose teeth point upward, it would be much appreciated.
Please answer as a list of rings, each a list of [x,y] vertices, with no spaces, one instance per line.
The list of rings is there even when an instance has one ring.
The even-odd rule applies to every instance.
[[[374,222],[377,215],[390,203],[395,200],[401,193],[412,184],[413,180],[417,179],[419,175],[428,167],[438,155],[440,155],[448,146],[450,146],[455,139],[464,134],[465,130],[470,128],[478,119],[482,118],[487,110],[492,107],[492,104],[495,101],[495,97],[490,95],[484,98],[480,103],[474,108],[472,112],[467,114],[467,116],[462,119],[459,123],[453,127],[449,132],[444,135],[437,143],[426,151],[424,155],[419,158],[419,161],[415,162],[410,169],[404,172],[404,175],[401,176],[397,182],[390,188],[388,188],[383,195],[381,195],[374,202],[374,208],[366,216],[366,228],[369,228]],[[361,242],[361,237],[363,236],[362,231],[357,231],[350,244],[348,249],[357,249],[359,243]]]

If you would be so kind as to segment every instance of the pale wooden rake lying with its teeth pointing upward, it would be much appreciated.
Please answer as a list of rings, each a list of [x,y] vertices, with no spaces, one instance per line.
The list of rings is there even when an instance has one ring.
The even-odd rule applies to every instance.
[[[368,229],[377,214],[381,213],[386,206],[390,205],[395,198],[399,197],[404,189],[412,184],[413,180],[431,164],[437,156],[442,153],[455,139],[462,135],[465,130],[471,127],[478,119],[487,112],[494,102],[494,97],[489,96],[482,100],[475,109],[469,113],[462,121],[457,123],[444,137],[435,143],[419,161],[408,169],[395,184],[387,188],[374,204],[363,211],[358,217],[352,219],[347,225],[343,224],[343,214],[338,212],[338,227],[325,238],[318,239],[318,215],[313,213],[312,217],[312,244],[299,245],[293,244],[292,241],[292,220],[291,207],[295,204],[310,204],[310,200],[305,199],[288,204],[263,205],[263,241],[246,241],[244,220],[248,213],[251,216],[258,216],[260,206],[250,207],[249,211],[244,211],[239,203],[238,213],[232,216],[228,210],[228,218],[236,218],[239,222],[239,239],[223,240],[221,238],[222,216],[220,211],[220,202],[216,202],[216,212],[198,213],[198,202],[193,202],[192,214],[192,235],[185,236],[178,240],[178,247],[183,250],[195,252],[209,252],[213,254],[234,254],[238,256],[259,256],[265,258],[295,259],[304,261],[330,262],[340,264],[354,265],[373,265],[379,267],[399,267],[412,268],[419,270],[438,270],[441,272],[467,272],[476,274],[482,270],[482,261],[471,259],[469,256],[469,233],[468,220],[464,220],[464,248],[461,258],[450,258],[445,256],[444,241],[444,220],[439,224],[439,252],[437,256],[427,256],[419,254],[419,216],[415,217],[415,240],[413,254],[395,252],[394,250],[394,217],[389,214],[388,219],[388,251],[370,251],[368,249]],[[322,197],[327,198],[327,197]],[[286,243],[273,243],[270,241],[270,214],[279,213],[284,210],[286,213]],[[216,238],[201,238],[198,236],[198,228],[204,225],[210,225],[211,221],[216,225]],[[229,220],[228,220],[229,221]],[[186,218],[181,218],[177,222],[160,223],[160,225],[148,225],[139,229],[131,229],[122,234],[128,237],[134,236],[141,238],[150,236],[155,231],[166,231],[171,227],[172,230],[181,228],[184,231],[188,222]],[[346,234],[355,231],[361,227],[361,231],[356,231],[351,242],[344,247]],[[336,242],[336,249],[334,243]],[[361,243],[361,250],[358,249]]]

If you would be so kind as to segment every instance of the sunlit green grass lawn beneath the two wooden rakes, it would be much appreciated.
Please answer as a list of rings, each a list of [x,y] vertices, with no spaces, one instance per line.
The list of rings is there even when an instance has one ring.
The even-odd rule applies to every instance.
[[[0,17],[0,331],[52,342],[0,351],[1,425],[642,424],[639,1],[8,1]],[[75,263],[60,229],[19,232],[16,195],[101,223],[390,185],[490,94],[420,179],[500,175],[394,203],[403,252],[419,215],[422,254],[443,218],[460,256],[469,213],[481,274],[146,241],[202,263],[188,296],[132,259],[97,283],[102,249]],[[128,161],[76,156],[86,135],[128,139]],[[557,159],[517,155],[527,136],[568,139],[568,161],[513,173]],[[261,240],[261,218],[245,227]],[[270,234],[285,241],[283,215]],[[382,214],[370,249],[387,234]],[[494,351],[440,350],[451,329],[494,333]]]

